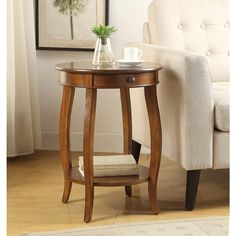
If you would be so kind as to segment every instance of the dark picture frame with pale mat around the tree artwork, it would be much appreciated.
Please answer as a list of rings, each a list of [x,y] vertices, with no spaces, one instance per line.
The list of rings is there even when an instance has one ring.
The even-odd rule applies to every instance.
[[[88,25],[84,26],[84,27],[87,27],[83,29],[84,32],[87,34],[87,36],[88,36],[88,33],[86,32],[86,30],[89,31],[88,28],[91,27],[92,25],[95,25],[95,24],[108,25],[109,24],[109,0],[93,0],[93,1],[96,4],[96,8],[95,8],[96,11],[100,11],[100,12],[94,13],[96,15],[96,20],[93,23],[91,23],[89,26]],[[66,35],[66,37],[65,35],[63,35],[64,37],[63,39],[58,38],[58,37],[57,38],[55,37],[55,39],[53,39],[51,31],[50,31],[50,37],[49,37],[45,33],[49,28],[49,26],[47,25],[47,20],[45,20],[45,19],[48,19],[48,16],[46,13],[47,11],[46,9],[48,9],[48,6],[46,4],[52,4],[52,6],[50,5],[50,7],[55,8],[53,6],[53,0],[35,0],[35,39],[36,39],[37,50],[57,50],[57,51],[93,51],[94,50],[96,37],[91,32],[89,32],[91,33],[91,36],[89,35],[90,37],[89,40],[86,40],[86,36],[84,36],[83,40],[69,38],[70,37],[69,34]],[[87,20],[86,23],[88,24],[89,17],[88,16],[86,17],[85,15],[86,11],[82,12],[82,14],[84,14],[85,19]],[[98,20],[97,15],[99,15],[99,20]],[[59,22],[60,20],[64,20],[64,21],[68,20],[66,19],[66,17],[70,17],[68,14],[66,15],[62,13],[60,14],[58,13],[56,16],[60,18]],[[55,14],[53,14],[54,21],[55,21],[56,16]],[[79,17],[79,16],[75,16],[75,17]],[[83,17],[83,15],[80,17]],[[57,27],[55,27],[58,32],[60,32],[59,27],[60,27],[60,23],[58,23]],[[62,24],[62,27],[63,27],[63,24]],[[68,27],[70,26],[68,25]],[[61,29],[61,32],[64,32],[64,30],[65,30],[65,27]]]

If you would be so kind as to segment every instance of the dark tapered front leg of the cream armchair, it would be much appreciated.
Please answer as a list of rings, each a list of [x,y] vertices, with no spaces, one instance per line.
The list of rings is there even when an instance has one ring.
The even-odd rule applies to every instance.
[[[201,170],[187,171],[185,210],[194,209]]]

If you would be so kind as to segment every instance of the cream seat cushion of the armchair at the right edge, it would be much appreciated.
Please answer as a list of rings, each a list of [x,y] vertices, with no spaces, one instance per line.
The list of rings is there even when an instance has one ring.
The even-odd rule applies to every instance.
[[[229,128],[229,83],[212,83],[214,96],[215,129],[228,132]]]

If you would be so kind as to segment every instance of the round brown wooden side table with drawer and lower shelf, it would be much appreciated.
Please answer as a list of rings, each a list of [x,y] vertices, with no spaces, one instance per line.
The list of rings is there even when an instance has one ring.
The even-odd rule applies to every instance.
[[[60,84],[63,97],[60,113],[60,151],[64,170],[64,193],[62,202],[69,199],[72,183],[85,185],[84,221],[92,218],[94,186],[125,186],[126,194],[131,196],[131,186],[148,182],[148,194],[151,209],[159,213],[157,203],[157,177],[161,160],[161,122],[157,102],[156,85],[159,64],[144,63],[137,67],[96,67],[91,62],[67,62],[56,65],[60,71]],[[78,166],[72,166],[70,158],[70,118],[75,88],[86,89],[84,115],[84,178],[79,174]],[[138,176],[99,177],[93,176],[93,143],[97,89],[120,89],[124,154],[132,154],[132,117],[130,88],[144,87],[144,94],[150,124],[151,157],[150,166],[138,165]]]

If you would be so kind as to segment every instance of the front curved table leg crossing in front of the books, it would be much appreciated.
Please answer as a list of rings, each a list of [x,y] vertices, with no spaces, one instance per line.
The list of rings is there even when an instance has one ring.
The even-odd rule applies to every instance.
[[[86,105],[84,116],[84,178],[85,178],[85,209],[84,221],[88,223],[92,218],[94,185],[93,185],[93,143],[96,112],[96,89],[86,89]]]

